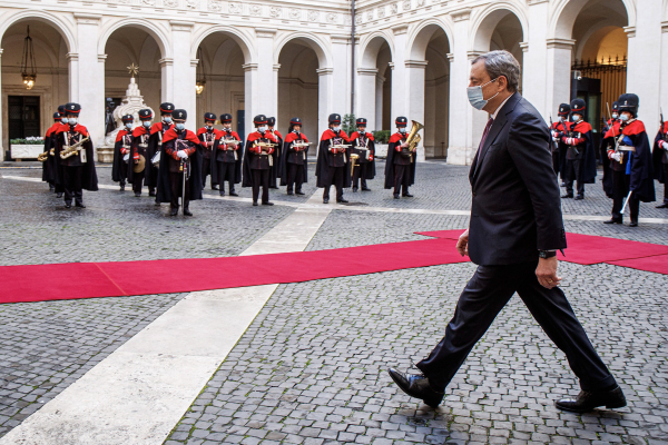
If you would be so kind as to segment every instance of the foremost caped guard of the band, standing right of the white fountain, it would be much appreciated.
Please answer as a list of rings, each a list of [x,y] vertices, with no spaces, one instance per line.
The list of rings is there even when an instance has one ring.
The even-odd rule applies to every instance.
[[[176,109],[171,113],[174,127],[165,131],[158,169],[158,202],[169,202],[171,216],[178,215],[181,200],[184,215],[190,212],[190,200],[202,199],[202,149],[199,139],[186,130],[186,110]]]

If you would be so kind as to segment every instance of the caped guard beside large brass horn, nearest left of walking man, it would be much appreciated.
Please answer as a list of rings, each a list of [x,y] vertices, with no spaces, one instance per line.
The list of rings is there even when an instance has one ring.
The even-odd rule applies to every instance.
[[[385,189],[394,188],[394,199],[399,194],[412,198],[409,187],[415,184],[415,150],[411,151],[406,142],[406,125],[409,120],[400,116],[394,121],[399,130],[390,137],[387,159],[385,159]],[[415,148],[416,149],[416,148]]]

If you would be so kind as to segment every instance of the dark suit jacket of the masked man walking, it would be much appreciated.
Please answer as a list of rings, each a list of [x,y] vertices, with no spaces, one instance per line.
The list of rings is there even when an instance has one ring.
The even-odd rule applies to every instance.
[[[473,263],[525,263],[538,260],[539,249],[566,248],[549,129],[519,92],[499,110],[469,180],[469,256]]]

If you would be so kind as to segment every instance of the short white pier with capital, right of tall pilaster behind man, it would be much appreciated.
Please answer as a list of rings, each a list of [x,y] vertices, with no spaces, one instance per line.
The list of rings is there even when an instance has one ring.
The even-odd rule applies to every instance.
[[[571,53],[576,41],[548,39],[546,42],[546,112],[549,117],[550,113],[557,116],[560,103],[570,103]]]

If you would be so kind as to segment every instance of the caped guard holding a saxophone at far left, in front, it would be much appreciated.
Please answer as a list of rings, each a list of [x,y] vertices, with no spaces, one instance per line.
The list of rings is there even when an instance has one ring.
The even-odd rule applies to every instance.
[[[92,141],[86,127],[79,125],[79,103],[65,106],[67,125],[61,126],[57,134],[56,159],[59,162],[59,178],[65,191],[65,207],[84,205],[84,191],[97,191],[97,172],[95,170]]]

